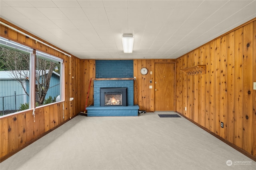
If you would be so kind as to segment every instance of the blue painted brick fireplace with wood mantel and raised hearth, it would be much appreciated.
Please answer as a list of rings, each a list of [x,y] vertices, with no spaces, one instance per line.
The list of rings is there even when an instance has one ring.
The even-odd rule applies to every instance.
[[[94,81],[94,106],[86,108],[87,116],[138,116],[134,105],[132,60],[97,60]],[[118,80],[115,80],[118,79]],[[127,88],[128,106],[100,106],[100,88]]]

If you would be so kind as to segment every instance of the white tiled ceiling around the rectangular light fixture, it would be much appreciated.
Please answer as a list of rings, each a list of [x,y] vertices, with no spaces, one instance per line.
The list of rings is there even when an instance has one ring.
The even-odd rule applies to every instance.
[[[0,0],[0,17],[80,59],[176,59],[255,18],[256,0]]]

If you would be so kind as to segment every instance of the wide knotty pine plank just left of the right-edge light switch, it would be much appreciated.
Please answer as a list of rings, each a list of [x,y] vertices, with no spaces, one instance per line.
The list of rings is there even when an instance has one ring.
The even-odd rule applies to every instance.
[[[243,149],[252,152],[253,23],[243,28]]]

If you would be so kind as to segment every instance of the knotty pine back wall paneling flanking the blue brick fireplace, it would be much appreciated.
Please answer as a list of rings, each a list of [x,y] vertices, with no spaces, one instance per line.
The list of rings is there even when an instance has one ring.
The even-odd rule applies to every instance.
[[[136,59],[133,60],[134,64],[134,104],[140,106],[140,110],[146,110],[147,112],[153,112],[154,110],[154,70],[155,63],[175,63],[175,59],[158,59],[158,60],[146,60],[146,59]],[[148,74],[140,74],[140,69],[146,67],[148,69]],[[84,111],[84,106],[86,104],[86,98],[88,94],[89,80],[90,78],[95,78],[95,60],[81,60],[81,107],[80,111]],[[150,74],[152,71],[152,74]],[[150,84],[150,80],[152,83]],[[149,86],[152,85],[153,88],[150,89]],[[93,81],[90,86],[89,98],[87,106],[93,105]]]

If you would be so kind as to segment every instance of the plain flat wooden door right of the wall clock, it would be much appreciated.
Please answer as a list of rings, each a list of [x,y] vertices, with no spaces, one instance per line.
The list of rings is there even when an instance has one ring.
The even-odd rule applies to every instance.
[[[155,63],[155,111],[174,111],[174,63]]]

